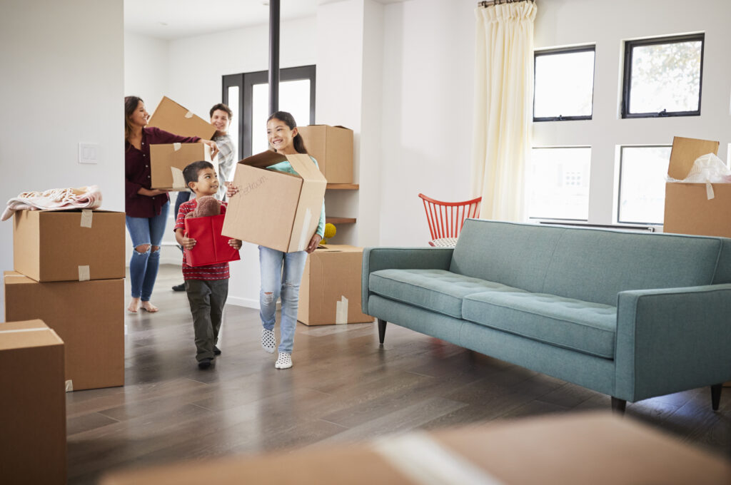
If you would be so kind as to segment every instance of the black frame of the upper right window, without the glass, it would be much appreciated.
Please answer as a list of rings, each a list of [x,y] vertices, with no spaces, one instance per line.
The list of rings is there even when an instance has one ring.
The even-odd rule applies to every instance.
[[[645,45],[678,44],[700,40],[700,77],[698,79],[698,109],[694,111],[666,111],[659,112],[629,112],[629,102],[632,96],[632,49]],[[700,116],[701,99],[703,93],[703,54],[705,51],[705,32],[698,34],[676,35],[670,37],[652,37],[651,39],[637,39],[624,41],[624,72],[622,73],[622,110],[623,119],[628,118],[669,118],[673,116]]]

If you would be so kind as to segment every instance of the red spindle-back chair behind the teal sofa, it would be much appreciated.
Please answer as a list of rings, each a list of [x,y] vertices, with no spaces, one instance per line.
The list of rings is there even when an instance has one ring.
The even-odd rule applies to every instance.
[[[482,197],[465,202],[442,202],[419,194],[424,202],[426,221],[429,223],[431,241],[429,245],[454,245],[466,218],[480,217]],[[450,241],[453,240],[453,241]],[[438,244],[437,240],[447,240],[446,244]]]

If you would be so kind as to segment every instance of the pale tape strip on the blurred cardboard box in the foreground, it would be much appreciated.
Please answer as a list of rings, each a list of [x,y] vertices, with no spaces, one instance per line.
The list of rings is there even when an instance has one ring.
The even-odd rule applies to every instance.
[[[503,482],[425,432],[379,438],[374,451],[415,484],[501,485]]]

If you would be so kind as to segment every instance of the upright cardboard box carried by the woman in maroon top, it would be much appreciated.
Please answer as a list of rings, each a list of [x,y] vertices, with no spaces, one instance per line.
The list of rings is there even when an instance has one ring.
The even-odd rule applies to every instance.
[[[187,188],[183,169],[194,161],[211,161],[211,147],[202,143],[150,145],[150,186],[181,191]],[[211,162],[213,163],[213,162]],[[218,164],[213,164],[216,173]]]

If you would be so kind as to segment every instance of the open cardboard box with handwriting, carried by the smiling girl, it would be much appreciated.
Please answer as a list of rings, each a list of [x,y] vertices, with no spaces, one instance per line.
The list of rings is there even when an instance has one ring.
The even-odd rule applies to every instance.
[[[298,175],[266,167],[289,161]],[[239,192],[226,210],[224,236],[276,249],[304,251],[319,223],[327,181],[308,155],[265,151],[236,165]]]

